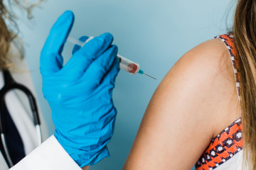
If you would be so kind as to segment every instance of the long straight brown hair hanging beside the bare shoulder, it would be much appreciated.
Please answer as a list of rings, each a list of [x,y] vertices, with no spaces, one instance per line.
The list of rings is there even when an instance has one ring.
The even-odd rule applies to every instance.
[[[256,169],[256,0],[238,0],[233,33],[240,60],[243,165]]]

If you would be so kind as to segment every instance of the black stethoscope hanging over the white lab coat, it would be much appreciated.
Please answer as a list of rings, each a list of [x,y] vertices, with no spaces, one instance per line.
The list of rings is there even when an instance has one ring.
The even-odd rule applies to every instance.
[[[31,91],[26,88],[26,86],[23,86],[21,84],[16,83],[14,79],[11,77],[11,74],[8,70],[3,70],[4,74],[4,87],[0,90],[0,133],[1,133],[1,142],[4,147],[4,154],[6,154],[6,163],[9,165],[9,167],[14,166],[13,162],[11,161],[11,157],[9,154],[8,147],[6,145],[6,128],[5,128],[5,111],[4,109],[6,107],[6,102],[4,100],[5,95],[7,92],[18,89],[22,91],[26,96],[28,97],[29,104],[31,106],[31,111],[33,114],[33,123],[36,126],[36,132],[37,132],[37,139],[38,139],[38,145],[41,145],[42,142],[42,134],[41,134],[41,129],[40,129],[40,120],[39,120],[39,115],[38,115],[38,108],[36,106],[36,99],[34,98],[33,94]]]

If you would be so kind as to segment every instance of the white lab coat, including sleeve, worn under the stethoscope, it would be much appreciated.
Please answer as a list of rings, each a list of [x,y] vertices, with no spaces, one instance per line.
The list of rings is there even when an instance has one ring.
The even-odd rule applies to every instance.
[[[25,62],[19,61],[18,64],[24,70],[28,70]],[[21,72],[12,74],[14,79],[19,83],[31,89],[34,93],[33,83],[31,76],[28,72]],[[0,72],[0,88],[4,86],[3,74]],[[35,95],[36,96],[36,95]],[[32,116],[28,113],[28,103],[24,102],[24,96],[21,94],[11,91],[6,94],[6,106],[9,109],[11,118],[14,120],[18,132],[21,135],[23,141],[26,157],[18,162],[11,170],[51,170],[51,169],[62,169],[62,170],[81,170],[78,164],[69,156],[67,152],[60,145],[58,140],[54,136],[51,136],[43,142],[39,147],[36,146],[36,128],[33,125]],[[50,114],[50,113],[49,113]],[[46,132],[47,128],[41,116],[41,130]],[[43,133],[44,135],[46,133]],[[4,157],[0,152],[0,170],[9,169]]]

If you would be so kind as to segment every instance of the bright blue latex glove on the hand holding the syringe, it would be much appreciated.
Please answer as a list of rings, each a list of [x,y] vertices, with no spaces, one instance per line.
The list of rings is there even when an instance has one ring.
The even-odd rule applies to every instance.
[[[112,90],[119,61],[113,37],[105,33],[82,48],[75,47],[63,66],[61,52],[73,21],[73,13],[66,11],[50,30],[41,52],[41,74],[43,94],[52,109],[55,137],[82,167],[109,157],[107,143],[117,113]]]

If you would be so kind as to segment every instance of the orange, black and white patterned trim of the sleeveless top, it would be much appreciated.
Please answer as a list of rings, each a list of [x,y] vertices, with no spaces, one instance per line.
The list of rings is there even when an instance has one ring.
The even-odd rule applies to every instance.
[[[240,74],[238,66],[238,52],[233,43],[233,35],[219,35],[216,38],[222,40],[228,49],[231,62],[233,64],[236,88],[240,101]],[[214,137],[208,148],[203,152],[201,158],[196,163],[196,170],[211,170],[221,164],[225,164],[235,154],[242,150],[242,123],[241,119],[235,120],[228,128],[217,137]]]

